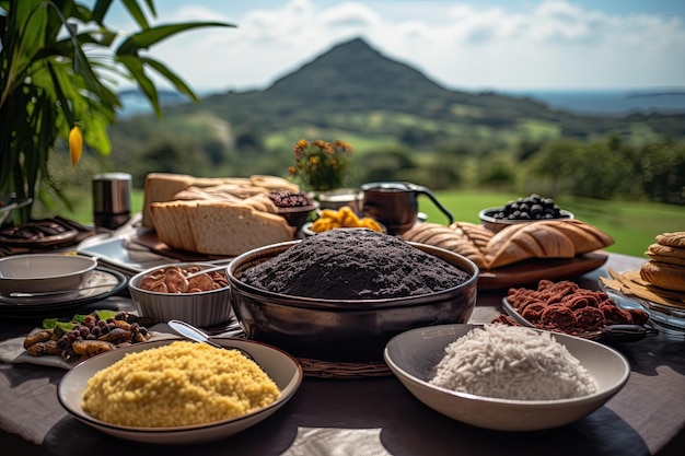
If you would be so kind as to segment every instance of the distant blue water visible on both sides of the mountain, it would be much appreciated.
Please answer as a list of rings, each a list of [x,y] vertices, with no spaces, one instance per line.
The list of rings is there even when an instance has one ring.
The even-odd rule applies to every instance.
[[[685,114],[685,89],[673,91],[630,91],[630,90],[539,90],[498,92],[511,96],[529,96],[545,103],[552,108],[577,114],[624,116],[631,113]],[[211,93],[200,93],[200,97]],[[138,93],[128,91],[121,94],[124,108],[120,117],[151,113],[147,101]],[[186,103],[187,98],[173,92],[161,94],[162,105]]]

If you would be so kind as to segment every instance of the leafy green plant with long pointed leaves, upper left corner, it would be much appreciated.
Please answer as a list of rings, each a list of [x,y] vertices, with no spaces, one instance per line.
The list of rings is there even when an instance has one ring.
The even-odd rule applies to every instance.
[[[105,25],[114,3],[0,0],[1,194],[39,196],[46,204],[50,195],[63,198],[48,173],[50,151],[78,124],[88,145],[103,155],[111,152],[107,127],[121,106],[113,83],[121,78],[136,82],[160,118],[158,90],[148,71],[198,100],[177,74],[139,51],[182,32],[234,27],[220,22],[151,26],[153,0],[119,0],[138,31],[115,48],[121,35]],[[15,222],[27,222],[30,215],[31,207],[24,208]]]

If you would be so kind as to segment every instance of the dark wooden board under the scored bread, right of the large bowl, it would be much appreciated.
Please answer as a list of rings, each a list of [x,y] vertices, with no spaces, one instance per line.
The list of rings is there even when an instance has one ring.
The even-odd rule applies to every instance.
[[[592,252],[570,259],[531,259],[480,271],[478,290],[497,290],[537,283],[543,279],[565,280],[582,276],[604,265],[608,255]]]

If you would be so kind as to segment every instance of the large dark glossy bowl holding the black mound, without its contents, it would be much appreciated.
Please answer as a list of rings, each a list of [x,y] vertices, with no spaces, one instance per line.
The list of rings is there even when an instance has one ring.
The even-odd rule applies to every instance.
[[[323,300],[274,293],[244,283],[245,270],[301,241],[247,252],[229,266],[231,304],[247,336],[299,358],[338,362],[383,360],[385,343],[408,329],[467,323],[476,305],[478,267],[469,259],[409,243],[471,278],[451,289],[420,296],[376,300]]]

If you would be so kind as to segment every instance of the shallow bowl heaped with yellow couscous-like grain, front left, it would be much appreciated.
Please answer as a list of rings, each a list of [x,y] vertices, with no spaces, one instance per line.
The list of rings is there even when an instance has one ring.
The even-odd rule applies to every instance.
[[[227,349],[248,353],[254,362],[237,350],[186,340],[137,343],[98,354],[71,369],[59,383],[58,400],[76,419],[119,439],[195,444],[224,439],[259,423],[280,409],[302,383],[298,361],[275,347],[244,339],[213,340]],[[229,364],[222,360],[227,356]],[[126,372],[128,366],[130,373]],[[254,384],[255,369],[265,374],[258,388]],[[236,370],[245,373],[239,381],[225,372],[234,374]],[[239,399],[228,412],[227,397],[221,396],[224,389],[207,391],[212,389],[209,385],[224,382],[245,382],[235,384],[234,390],[245,394],[236,394]],[[255,389],[265,391],[268,400],[255,398]],[[104,401],[108,402],[108,410],[103,410]],[[129,409],[131,413],[127,412]],[[169,416],[182,418],[163,422]],[[184,421],[184,416],[190,421]]]

